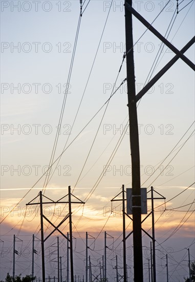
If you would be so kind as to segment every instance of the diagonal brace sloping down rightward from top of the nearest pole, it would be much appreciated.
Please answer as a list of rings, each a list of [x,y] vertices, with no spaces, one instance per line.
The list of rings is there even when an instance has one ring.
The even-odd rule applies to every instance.
[[[153,26],[151,26],[145,18],[143,18],[131,5],[125,2],[125,7],[131,12],[139,21],[151,32],[153,32],[167,47],[169,47],[174,53],[176,53],[192,70],[195,71],[195,65],[180,52],[174,45],[172,45],[162,34],[160,34]]]

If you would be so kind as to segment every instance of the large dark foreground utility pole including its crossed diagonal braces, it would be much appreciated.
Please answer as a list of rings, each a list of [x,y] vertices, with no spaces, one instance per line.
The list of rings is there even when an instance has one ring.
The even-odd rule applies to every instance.
[[[183,60],[192,70],[195,65],[184,55],[184,53],[195,42],[195,36],[179,51],[175,46],[167,41],[150,23],[148,23],[133,7],[132,0],[125,0],[125,36],[126,36],[126,69],[127,69],[127,93],[130,144],[132,155],[132,197],[133,197],[133,244],[134,244],[134,281],[143,281],[143,256],[141,238],[141,186],[140,186],[140,157],[139,157],[139,135],[136,103],[143,95],[174,65],[179,58]],[[134,70],[134,50],[133,50],[133,28],[132,14],[160,41],[168,46],[176,56],[169,61],[144,88],[136,95],[135,92],[135,70]]]

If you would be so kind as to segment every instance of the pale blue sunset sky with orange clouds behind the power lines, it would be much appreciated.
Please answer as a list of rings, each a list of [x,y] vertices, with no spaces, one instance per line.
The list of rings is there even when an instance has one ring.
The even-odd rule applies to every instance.
[[[158,0],[133,1],[135,10],[149,23],[155,20],[153,26],[181,50],[194,35],[194,2],[179,0],[178,14],[177,1],[166,4]],[[52,166],[45,196],[57,201],[68,194],[71,186],[72,194],[85,202],[72,205],[77,275],[84,274],[86,231],[96,238],[92,240],[94,251],[90,250],[94,264],[103,255],[104,232],[114,237],[108,239],[111,281],[116,277],[117,253],[122,266],[121,202],[112,207],[111,199],[121,192],[122,185],[131,188],[132,181],[126,82],[117,90],[126,78],[125,59],[119,72],[125,52],[123,1],[83,1],[82,12],[75,50],[78,0],[1,0],[1,279],[7,272],[12,273],[14,234],[23,240],[17,241],[21,255],[16,259],[16,274],[31,273],[31,255],[25,257],[23,250],[31,246],[32,234],[40,238],[40,219],[38,206],[27,208],[26,204],[44,187],[64,93],[66,104],[54,161],[63,154]],[[145,31],[133,18],[136,93],[174,57],[155,35]],[[194,62],[194,46],[185,55]],[[105,104],[113,91],[116,93]],[[147,188],[149,197],[153,186],[167,202],[155,200],[158,282],[166,281],[166,253],[169,280],[174,282],[188,275],[185,248],[190,249],[191,260],[195,259],[193,121],[194,74],[179,59],[138,106],[141,187]],[[147,206],[149,212],[150,200]],[[58,223],[68,210],[52,204],[44,212]],[[64,233],[69,231],[67,224],[62,228]],[[151,232],[150,217],[143,228]],[[45,230],[46,234],[51,231],[47,223]],[[131,230],[131,220],[126,219],[126,232]],[[48,240],[46,248],[56,244],[58,235]],[[143,234],[144,281],[149,279],[149,240]],[[36,246],[40,247],[39,241]],[[62,237],[60,246],[65,277],[67,245]],[[130,279],[132,246],[130,237]],[[55,262],[51,262],[53,256],[51,251],[47,277],[57,275]],[[40,252],[36,259],[38,277]],[[94,274],[98,275],[98,271],[94,267]]]

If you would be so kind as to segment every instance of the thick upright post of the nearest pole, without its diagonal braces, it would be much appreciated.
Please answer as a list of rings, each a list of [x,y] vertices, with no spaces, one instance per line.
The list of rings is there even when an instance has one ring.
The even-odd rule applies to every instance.
[[[126,0],[125,4],[126,3],[132,7],[132,0]],[[134,70],[133,25],[132,25],[132,13],[129,12],[126,6],[125,6],[125,36],[126,36],[128,114],[129,114],[130,145],[131,145],[131,157],[132,157],[134,281],[143,282],[140,153],[139,153],[139,133],[138,133],[135,70]]]

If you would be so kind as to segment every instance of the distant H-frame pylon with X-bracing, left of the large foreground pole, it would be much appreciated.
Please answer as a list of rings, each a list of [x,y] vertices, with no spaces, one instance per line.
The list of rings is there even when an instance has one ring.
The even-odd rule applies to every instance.
[[[57,230],[63,237],[65,237],[67,240],[69,240],[70,242],[70,260],[71,260],[71,281],[74,281],[74,270],[73,270],[73,236],[72,236],[72,211],[71,211],[71,204],[84,204],[84,202],[82,202],[80,199],[78,199],[76,196],[74,196],[73,194],[71,194],[71,186],[69,186],[69,193],[60,198],[59,200],[57,200],[57,202],[54,202],[52,199],[46,197],[45,195],[42,195],[42,192],[40,191],[38,196],[40,198],[40,203],[32,203],[37,197],[35,197],[34,199],[31,200],[31,202],[29,202],[28,204],[26,204],[27,206],[29,205],[40,205],[40,229],[41,229],[41,257],[42,257],[42,282],[46,281],[46,277],[45,277],[45,254],[44,254],[44,243],[45,241]],[[72,202],[71,201],[71,195],[76,198],[77,200],[79,200],[79,202]],[[63,198],[68,196],[68,201],[61,201]],[[42,198],[47,198],[47,200],[49,200],[50,202],[42,202]],[[69,214],[64,217],[60,223],[55,226],[44,214],[42,211],[42,205],[44,204],[69,204]],[[70,232],[70,239],[64,235],[60,230],[59,227],[62,225],[62,223],[64,223],[64,221],[66,221],[69,218],[69,232]],[[51,226],[54,228],[53,231],[46,237],[44,238],[44,219],[48,221],[48,223],[51,224]],[[59,268],[58,268],[59,269]],[[58,271],[59,272],[59,271]],[[59,276],[58,276],[59,277]],[[58,281],[59,282],[59,281]]]

